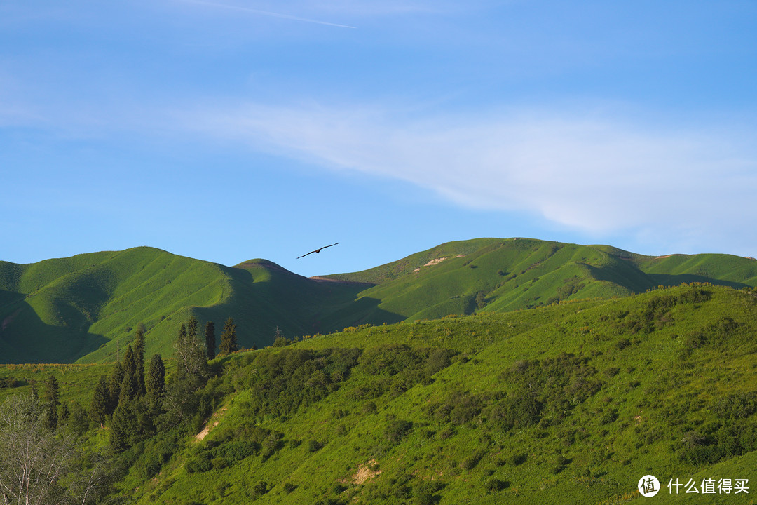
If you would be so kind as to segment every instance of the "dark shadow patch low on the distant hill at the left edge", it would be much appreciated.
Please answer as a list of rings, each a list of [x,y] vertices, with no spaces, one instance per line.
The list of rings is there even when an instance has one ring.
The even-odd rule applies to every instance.
[[[0,363],[73,363],[108,339],[89,333],[91,323],[74,314],[65,326],[45,323],[26,301],[0,307]]]

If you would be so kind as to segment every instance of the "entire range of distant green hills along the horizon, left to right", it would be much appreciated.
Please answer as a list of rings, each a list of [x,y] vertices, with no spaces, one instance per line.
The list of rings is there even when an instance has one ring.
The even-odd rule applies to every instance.
[[[145,325],[148,354],[173,352],[179,324],[227,317],[244,347],[363,323],[506,312],[615,298],[681,282],[757,285],[757,261],[727,254],[648,257],[529,238],[448,242],[357,273],[307,279],[268,260],[236,267],[154,248],[20,265],[0,262],[0,363],[114,360]]]

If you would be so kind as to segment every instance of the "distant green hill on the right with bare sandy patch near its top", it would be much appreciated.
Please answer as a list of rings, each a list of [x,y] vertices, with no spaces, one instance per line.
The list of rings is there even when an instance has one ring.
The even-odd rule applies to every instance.
[[[410,319],[507,311],[581,298],[614,298],[658,285],[757,283],[757,261],[727,254],[646,257],[609,246],[481,238],[449,242],[364,272],[361,297]],[[478,299],[477,299],[478,296]],[[378,320],[367,320],[378,323]]]

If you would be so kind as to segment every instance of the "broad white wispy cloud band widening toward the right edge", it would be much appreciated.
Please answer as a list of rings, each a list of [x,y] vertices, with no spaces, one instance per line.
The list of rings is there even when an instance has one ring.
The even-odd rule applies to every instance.
[[[212,136],[592,234],[684,244],[755,224],[744,208],[757,190],[755,149],[702,130],[534,111],[399,120],[378,108],[247,104],[197,114]]]

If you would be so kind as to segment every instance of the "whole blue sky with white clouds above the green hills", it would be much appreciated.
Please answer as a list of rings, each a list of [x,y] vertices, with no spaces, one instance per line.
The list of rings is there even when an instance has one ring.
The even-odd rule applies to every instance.
[[[5,0],[0,259],[757,256],[755,112],[755,2]]]

